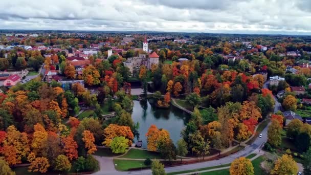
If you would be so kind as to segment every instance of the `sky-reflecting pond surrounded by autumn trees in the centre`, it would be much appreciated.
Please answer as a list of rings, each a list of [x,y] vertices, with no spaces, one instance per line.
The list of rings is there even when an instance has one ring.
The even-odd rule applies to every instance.
[[[181,138],[181,130],[185,127],[190,119],[190,114],[180,110],[175,106],[169,108],[158,108],[153,105],[153,99],[136,101],[134,100],[134,107],[132,113],[133,121],[139,122],[138,129],[140,139],[143,141],[143,148],[147,148],[146,133],[151,124],[156,125],[158,128],[168,130],[174,144]],[[135,142],[137,139],[135,138]]]

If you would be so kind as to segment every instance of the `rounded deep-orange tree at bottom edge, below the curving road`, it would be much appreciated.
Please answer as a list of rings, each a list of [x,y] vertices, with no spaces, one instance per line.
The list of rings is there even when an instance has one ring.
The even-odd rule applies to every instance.
[[[230,175],[253,175],[254,167],[250,159],[240,157],[235,159],[230,166]]]

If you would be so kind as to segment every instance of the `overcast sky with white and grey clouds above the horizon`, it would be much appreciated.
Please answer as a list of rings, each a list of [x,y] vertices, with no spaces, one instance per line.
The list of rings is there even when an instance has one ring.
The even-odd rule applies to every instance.
[[[0,0],[0,29],[311,34],[311,0]]]

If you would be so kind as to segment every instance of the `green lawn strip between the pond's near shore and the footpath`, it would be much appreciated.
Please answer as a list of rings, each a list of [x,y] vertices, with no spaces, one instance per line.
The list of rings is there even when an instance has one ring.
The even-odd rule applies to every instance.
[[[142,149],[130,149],[126,155],[122,158],[131,158],[131,159],[161,159],[159,152],[153,152]]]

